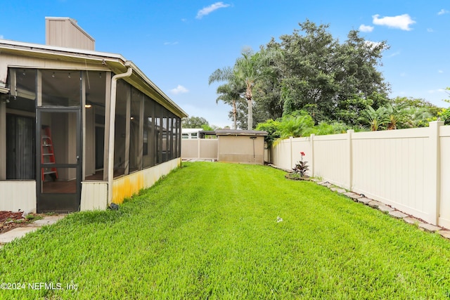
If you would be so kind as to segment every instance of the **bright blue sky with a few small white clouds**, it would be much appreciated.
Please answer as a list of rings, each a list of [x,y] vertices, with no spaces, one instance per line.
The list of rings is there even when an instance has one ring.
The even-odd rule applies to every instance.
[[[231,66],[243,48],[292,34],[309,19],[329,24],[345,41],[360,30],[387,41],[379,68],[391,97],[424,98],[448,107],[450,1],[4,1],[0,38],[45,44],[45,17],[70,17],[96,39],[96,50],[132,60],[189,115],[231,125],[230,107],[216,104],[217,68]]]

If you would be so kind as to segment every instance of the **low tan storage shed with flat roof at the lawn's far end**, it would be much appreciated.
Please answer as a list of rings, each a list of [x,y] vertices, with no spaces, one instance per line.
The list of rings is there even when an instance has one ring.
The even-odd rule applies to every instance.
[[[266,131],[216,130],[219,138],[219,162],[264,164],[264,136]]]

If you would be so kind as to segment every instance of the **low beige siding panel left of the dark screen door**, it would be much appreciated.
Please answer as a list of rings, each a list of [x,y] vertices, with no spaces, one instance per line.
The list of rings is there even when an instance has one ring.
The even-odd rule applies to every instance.
[[[36,212],[36,181],[0,181],[0,211]]]

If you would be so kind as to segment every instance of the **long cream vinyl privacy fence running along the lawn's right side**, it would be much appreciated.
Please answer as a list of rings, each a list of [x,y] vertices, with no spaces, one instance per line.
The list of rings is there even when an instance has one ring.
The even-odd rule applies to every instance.
[[[309,176],[450,228],[450,126],[288,138],[271,148],[291,170],[304,152]]]

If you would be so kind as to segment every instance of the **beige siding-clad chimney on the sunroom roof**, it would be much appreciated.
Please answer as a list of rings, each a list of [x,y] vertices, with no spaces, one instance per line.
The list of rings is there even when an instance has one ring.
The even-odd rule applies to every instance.
[[[72,18],[45,18],[45,44],[66,48],[95,50],[95,39]]]

